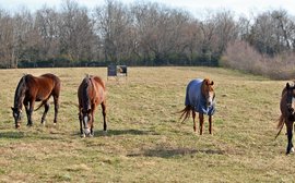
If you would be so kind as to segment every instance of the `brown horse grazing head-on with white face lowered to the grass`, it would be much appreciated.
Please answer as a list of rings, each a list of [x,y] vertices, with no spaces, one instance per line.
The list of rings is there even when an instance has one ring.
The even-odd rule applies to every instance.
[[[103,80],[86,75],[78,88],[78,99],[81,137],[94,135],[94,112],[98,105],[103,109],[104,131],[106,131],[106,87]]]

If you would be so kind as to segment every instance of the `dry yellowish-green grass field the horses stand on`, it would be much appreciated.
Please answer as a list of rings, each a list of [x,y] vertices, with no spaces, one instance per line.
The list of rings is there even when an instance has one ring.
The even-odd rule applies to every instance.
[[[51,72],[62,82],[58,125],[54,105],[34,126],[14,129],[11,107],[23,73]],[[285,156],[284,130],[274,139],[286,81],[212,68],[129,68],[128,78],[107,81],[105,68],[0,70],[0,182],[292,182],[294,154]],[[81,138],[76,89],[84,74],[107,85],[108,132],[102,110],[95,136]],[[192,120],[178,121],[191,78],[215,83],[213,135]]]

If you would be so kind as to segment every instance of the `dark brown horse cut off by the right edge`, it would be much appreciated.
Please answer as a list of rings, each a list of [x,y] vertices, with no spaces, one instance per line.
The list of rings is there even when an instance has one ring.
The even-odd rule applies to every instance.
[[[295,113],[294,113],[294,98],[295,98],[295,86],[291,86],[286,83],[282,91],[280,109],[281,109],[281,117],[278,123],[279,132],[275,138],[281,133],[284,124],[286,125],[286,133],[287,133],[287,148],[286,155],[291,151],[294,151],[292,137],[293,137],[293,124],[295,121]]]

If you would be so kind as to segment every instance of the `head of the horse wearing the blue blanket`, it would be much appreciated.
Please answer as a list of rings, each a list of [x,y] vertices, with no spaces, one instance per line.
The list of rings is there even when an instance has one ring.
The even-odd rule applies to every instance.
[[[202,94],[205,97],[206,107],[213,105],[213,100],[215,98],[215,91],[213,88],[214,82],[209,78],[204,78],[202,83]]]

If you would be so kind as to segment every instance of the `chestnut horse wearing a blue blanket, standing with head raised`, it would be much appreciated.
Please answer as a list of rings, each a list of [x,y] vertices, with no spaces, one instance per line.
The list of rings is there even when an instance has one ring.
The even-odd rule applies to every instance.
[[[192,80],[187,86],[185,109],[179,111],[181,113],[180,120],[187,120],[192,113],[193,131],[197,132],[196,112],[199,113],[200,135],[203,133],[203,114],[209,115],[209,133],[212,134],[212,115],[215,112],[215,93],[213,89],[214,82],[209,78]],[[182,121],[182,122],[184,122]]]

